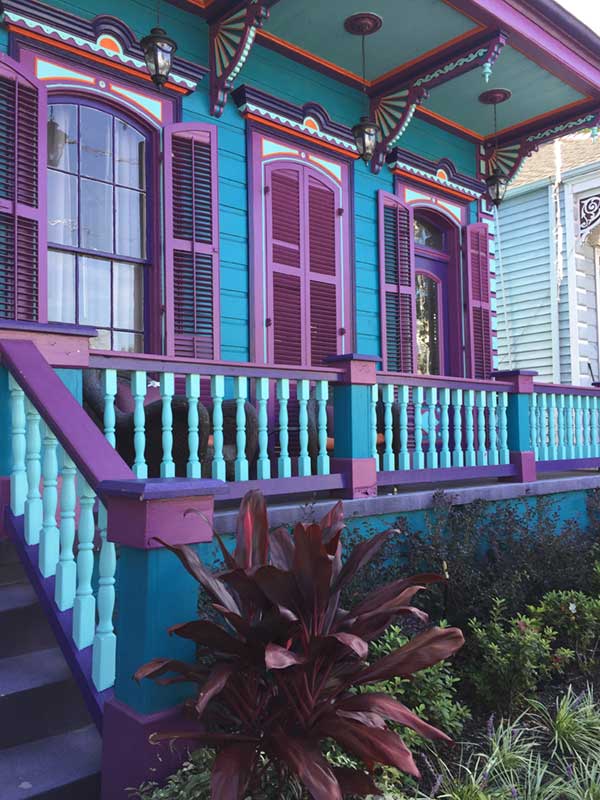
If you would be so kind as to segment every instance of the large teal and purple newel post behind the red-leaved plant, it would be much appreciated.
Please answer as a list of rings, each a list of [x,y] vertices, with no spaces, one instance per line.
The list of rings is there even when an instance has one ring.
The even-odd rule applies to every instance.
[[[190,684],[157,686],[133,680],[154,658],[195,660],[195,645],[167,629],[197,617],[198,584],[160,542],[201,547],[212,540],[213,480],[105,481],[98,494],[107,510],[108,539],[118,545],[114,699],[104,706],[102,798],[121,800],[127,787],[160,780],[182,762],[183,746],[154,745],[149,736],[181,730],[181,703]]]

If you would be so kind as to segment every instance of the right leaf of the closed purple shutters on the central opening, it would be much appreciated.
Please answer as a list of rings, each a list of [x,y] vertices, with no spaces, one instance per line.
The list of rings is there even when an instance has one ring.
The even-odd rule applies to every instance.
[[[310,273],[310,363],[321,366],[338,353],[338,286],[336,198],[332,187],[310,172],[308,257]],[[339,298],[341,299],[341,298]]]

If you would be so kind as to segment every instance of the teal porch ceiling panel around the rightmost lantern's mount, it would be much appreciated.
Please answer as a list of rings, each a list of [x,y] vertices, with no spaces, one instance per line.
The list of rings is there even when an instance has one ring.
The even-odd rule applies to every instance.
[[[425,108],[483,136],[493,133],[493,110],[478,97],[485,89],[501,86],[512,97],[498,106],[498,128],[546,114],[583,99],[584,95],[539,67],[513,47],[506,46],[486,86],[481,70],[475,69],[431,91]]]

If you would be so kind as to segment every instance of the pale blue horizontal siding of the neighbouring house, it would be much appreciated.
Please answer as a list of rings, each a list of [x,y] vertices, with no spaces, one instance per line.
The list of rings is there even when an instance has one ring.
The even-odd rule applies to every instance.
[[[548,187],[510,195],[499,211],[497,264],[500,369],[535,369],[552,380]]]

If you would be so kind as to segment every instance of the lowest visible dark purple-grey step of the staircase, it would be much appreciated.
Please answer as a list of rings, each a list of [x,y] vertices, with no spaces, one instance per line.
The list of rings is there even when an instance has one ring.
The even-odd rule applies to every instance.
[[[102,742],[88,725],[0,751],[2,800],[98,800]]]

